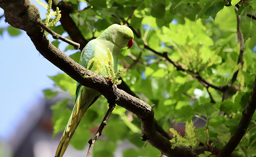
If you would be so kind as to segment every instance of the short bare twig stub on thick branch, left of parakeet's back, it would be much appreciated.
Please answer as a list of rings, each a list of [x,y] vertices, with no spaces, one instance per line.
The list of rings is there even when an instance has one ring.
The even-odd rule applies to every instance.
[[[45,26],[45,24],[43,22],[41,22],[41,20],[37,20],[37,25],[40,26],[41,28],[43,28],[45,31],[47,31],[48,33],[50,33],[50,35],[52,35],[52,37],[54,39],[60,39],[63,42],[66,42],[72,46],[74,46],[74,49],[79,49],[80,44],[73,42],[65,37],[62,37],[61,35],[59,35],[58,33],[52,31],[52,29],[48,28],[47,26]]]

